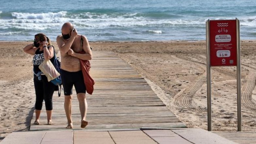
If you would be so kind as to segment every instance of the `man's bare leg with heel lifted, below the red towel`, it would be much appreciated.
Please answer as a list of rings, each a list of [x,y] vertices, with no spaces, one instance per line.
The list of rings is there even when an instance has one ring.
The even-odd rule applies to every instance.
[[[79,109],[81,114],[81,127],[85,128],[88,125],[88,122],[86,121],[88,105],[87,105],[85,93],[78,93],[77,99],[79,101]]]

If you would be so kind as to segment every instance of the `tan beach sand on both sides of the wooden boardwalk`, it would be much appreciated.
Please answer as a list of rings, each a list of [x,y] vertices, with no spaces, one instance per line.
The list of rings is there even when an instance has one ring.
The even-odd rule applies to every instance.
[[[0,42],[0,140],[29,129],[35,92],[31,42]],[[56,42],[53,45],[57,48]],[[256,41],[241,42],[242,130],[256,130]],[[113,51],[145,78],[170,111],[188,127],[207,129],[206,43],[90,42]],[[212,130],[237,130],[236,67],[212,67]]]

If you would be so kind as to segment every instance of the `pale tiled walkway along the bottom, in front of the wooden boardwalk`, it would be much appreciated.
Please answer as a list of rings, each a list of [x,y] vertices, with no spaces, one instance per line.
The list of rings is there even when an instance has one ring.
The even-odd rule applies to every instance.
[[[14,132],[1,144],[235,144],[203,129]]]

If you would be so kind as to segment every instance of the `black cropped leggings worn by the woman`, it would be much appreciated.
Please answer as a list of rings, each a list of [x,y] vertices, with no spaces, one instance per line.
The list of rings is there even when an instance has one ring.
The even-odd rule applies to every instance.
[[[55,85],[52,82],[48,82],[47,77],[41,75],[41,80],[34,75],[34,85],[36,90],[36,110],[42,110],[43,100],[45,102],[45,109],[50,111],[53,110],[53,93]]]

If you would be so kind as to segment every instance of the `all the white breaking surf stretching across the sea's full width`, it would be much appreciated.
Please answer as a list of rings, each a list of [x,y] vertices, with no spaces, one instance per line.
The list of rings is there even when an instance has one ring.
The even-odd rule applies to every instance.
[[[2,29],[17,28],[24,30],[52,30],[60,29],[64,22],[70,21],[79,29],[108,29],[108,28],[136,28],[136,27],[205,27],[206,19],[148,19],[137,13],[123,15],[107,15],[83,13],[67,16],[67,12],[57,13],[12,13],[13,19],[0,19]],[[137,17],[138,16],[138,17]],[[241,26],[255,27],[256,18],[240,19]],[[148,29],[148,28],[147,28]],[[151,29],[152,30],[152,29]],[[146,31],[146,30],[145,30]],[[162,33],[159,30],[149,32]]]

